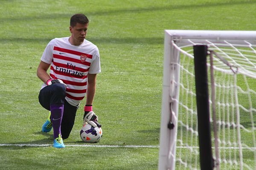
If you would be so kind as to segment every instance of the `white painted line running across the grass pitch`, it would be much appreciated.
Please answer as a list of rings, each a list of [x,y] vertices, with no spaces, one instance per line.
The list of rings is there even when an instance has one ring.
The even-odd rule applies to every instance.
[[[19,147],[49,147],[52,144],[0,144],[1,146],[19,146]],[[157,145],[94,145],[94,144],[65,144],[68,147],[131,147],[131,148],[159,148]],[[186,146],[177,146],[177,148],[182,149],[191,149],[199,147],[186,147]],[[212,147],[214,149],[214,147]],[[239,147],[219,147],[221,149],[239,149]],[[242,147],[242,149],[256,150],[256,147]]]

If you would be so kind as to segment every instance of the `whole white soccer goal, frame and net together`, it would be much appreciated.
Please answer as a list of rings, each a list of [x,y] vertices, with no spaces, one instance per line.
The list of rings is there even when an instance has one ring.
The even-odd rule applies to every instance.
[[[164,43],[158,170],[201,168],[195,45],[207,45],[209,53],[205,121],[210,125],[213,169],[255,170],[256,31],[166,30]]]

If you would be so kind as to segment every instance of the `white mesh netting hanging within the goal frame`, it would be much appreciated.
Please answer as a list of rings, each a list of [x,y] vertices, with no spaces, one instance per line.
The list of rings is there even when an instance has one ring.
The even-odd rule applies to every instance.
[[[193,45],[207,44],[213,54],[215,116],[212,120],[211,77],[208,67],[210,122],[217,125],[218,152],[212,128],[212,153],[221,170],[256,167],[256,42],[246,40],[186,40],[172,44],[179,51],[180,80],[176,170],[200,169]],[[209,58],[209,57],[208,57]],[[209,63],[209,62],[208,62]],[[177,63],[176,63],[177,64]]]

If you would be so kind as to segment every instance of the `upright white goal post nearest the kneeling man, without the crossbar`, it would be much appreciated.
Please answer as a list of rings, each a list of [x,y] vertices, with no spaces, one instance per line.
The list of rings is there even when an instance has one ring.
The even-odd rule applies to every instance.
[[[162,116],[160,128],[160,154],[159,170],[167,170],[167,167],[174,168],[176,151],[177,109],[179,99],[179,51],[172,45],[172,37],[165,36],[164,42],[164,71],[163,71],[163,96]],[[172,86],[172,88],[170,88]],[[173,125],[173,126],[171,126]]]

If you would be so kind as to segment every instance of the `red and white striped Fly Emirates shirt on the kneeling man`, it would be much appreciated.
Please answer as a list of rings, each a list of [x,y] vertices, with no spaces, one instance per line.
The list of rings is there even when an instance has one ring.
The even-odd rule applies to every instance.
[[[76,46],[71,45],[68,39],[69,37],[51,40],[41,61],[51,64],[50,77],[61,79],[67,85],[65,99],[70,105],[77,106],[87,91],[87,74],[101,72],[99,49],[87,40]],[[42,88],[46,86],[44,83]]]

